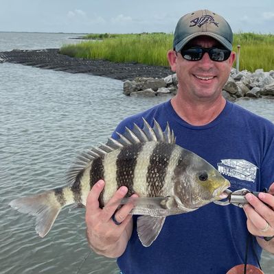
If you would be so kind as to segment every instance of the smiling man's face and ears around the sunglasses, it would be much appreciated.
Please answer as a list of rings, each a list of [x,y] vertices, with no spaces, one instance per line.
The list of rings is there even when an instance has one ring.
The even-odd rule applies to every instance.
[[[209,36],[198,36],[187,43],[186,47],[221,47],[220,43]],[[173,56],[173,62],[170,60]],[[198,61],[185,60],[181,53],[168,53],[172,71],[176,71],[179,92],[185,99],[207,101],[220,96],[222,87],[227,82],[231,66],[235,60],[232,52],[229,59],[216,62],[209,58],[208,53]]]

